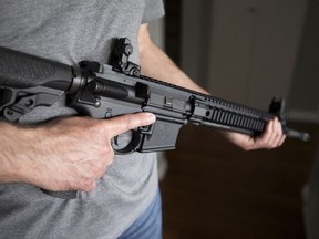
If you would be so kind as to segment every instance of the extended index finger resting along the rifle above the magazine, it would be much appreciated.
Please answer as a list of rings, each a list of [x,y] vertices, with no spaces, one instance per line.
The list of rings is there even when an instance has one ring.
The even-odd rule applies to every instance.
[[[107,119],[107,133],[114,137],[124,132],[140,126],[146,126],[155,123],[156,117],[152,113],[127,114]]]

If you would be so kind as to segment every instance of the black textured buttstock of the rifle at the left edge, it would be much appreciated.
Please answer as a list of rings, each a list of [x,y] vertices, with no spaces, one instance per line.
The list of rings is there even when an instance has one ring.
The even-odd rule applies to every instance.
[[[0,86],[22,89],[50,81],[70,84],[71,80],[71,67],[65,64],[0,48]]]

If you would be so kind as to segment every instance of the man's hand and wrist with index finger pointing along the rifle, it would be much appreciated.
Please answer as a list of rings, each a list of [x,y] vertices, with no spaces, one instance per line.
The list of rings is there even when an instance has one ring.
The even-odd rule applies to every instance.
[[[111,119],[68,117],[37,127],[0,123],[0,183],[24,181],[48,190],[95,188],[112,164],[111,138],[153,124],[148,113]]]

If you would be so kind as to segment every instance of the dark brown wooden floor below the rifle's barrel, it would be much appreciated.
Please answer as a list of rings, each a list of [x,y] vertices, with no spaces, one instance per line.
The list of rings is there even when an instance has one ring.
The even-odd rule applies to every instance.
[[[290,125],[291,126],[291,125]],[[244,152],[216,131],[184,126],[161,183],[164,239],[305,239],[301,189],[319,138]]]

